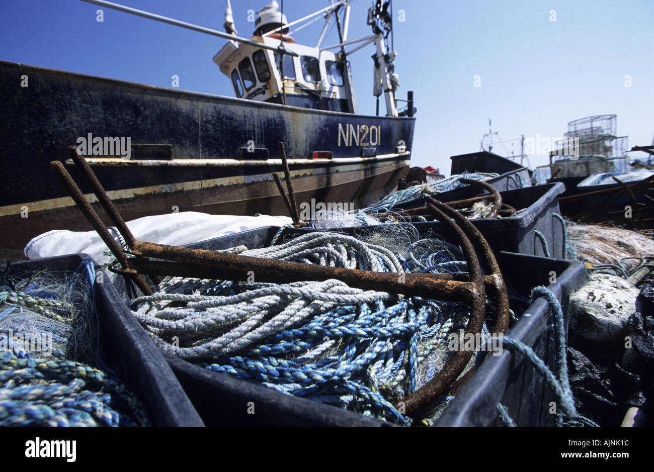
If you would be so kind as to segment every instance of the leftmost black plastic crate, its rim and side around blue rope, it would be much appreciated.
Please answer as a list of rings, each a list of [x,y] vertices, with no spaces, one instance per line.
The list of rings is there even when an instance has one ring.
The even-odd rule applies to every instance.
[[[74,272],[86,254],[10,263],[9,275]],[[94,263],[96,273],[103,270]],[[145,405],[153,426],[204,426],[162,353],[123,303],[103,272],[95,282],[99,343],[103,362]],[[84,362],[84,360],[82,360]]]

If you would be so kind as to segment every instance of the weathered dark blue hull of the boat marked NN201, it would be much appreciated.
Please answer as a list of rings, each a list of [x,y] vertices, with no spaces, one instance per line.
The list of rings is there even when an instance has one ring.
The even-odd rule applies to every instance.
[[[87,156],[128,220],[172,211],[287,214],[271,177],[283,170],[278,143],[286,148],[298,201],[360,208],[392,191],[407,172],[415,124],[1,61],[0,116],[10,182],[0,190],[0,247],[14,249],[50,229],[90,229],[48,166],[66,161],[65,148],[80,138],[129,137],[135,149],[163,145],[154,146],[163,154],[131,160]],[[316,151],[331,158],[311,159]],[[90,194],[70,162],[67,169]]]

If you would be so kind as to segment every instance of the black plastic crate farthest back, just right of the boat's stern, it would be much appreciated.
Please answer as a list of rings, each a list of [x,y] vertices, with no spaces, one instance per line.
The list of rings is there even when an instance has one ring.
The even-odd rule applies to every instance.
[[[464,172],[494,172],[499,177],[487,180],[497,190],[511,190],[531,185],[531,172],[517,162],[487,151],[452,156],[451,175]]]

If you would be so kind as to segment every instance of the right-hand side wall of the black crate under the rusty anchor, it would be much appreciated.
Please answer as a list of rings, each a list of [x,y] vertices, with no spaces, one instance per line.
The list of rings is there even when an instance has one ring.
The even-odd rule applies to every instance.
[[[571,261],[508,252],[500,252],[498,256],[502,275],[512,288],[528,294],[530,288],[545,285],[556,295],[567,329],[570,294],[589,280],[585,267]],[[557,273],[553,284],[549,283],[550,271]],[[545,299],[538,298],[508,334],[530,346],[554,370],[555,342],[547,328],[550,316],[549,305]],[[555,399],[542,375],[522,354],[504,349],[501,356],[486,356],[435,426],[502,426],[498,403],[508,408],[517,426],[554,426],[555,415],[550,414],[549,409],[550,402]]]

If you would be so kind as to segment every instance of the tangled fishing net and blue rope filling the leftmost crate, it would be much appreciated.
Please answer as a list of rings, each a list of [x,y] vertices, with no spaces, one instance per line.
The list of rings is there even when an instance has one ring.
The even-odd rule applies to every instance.
[[[75,273],[0,274],[0,426],[145,426],[103,365],[91,261]]]

